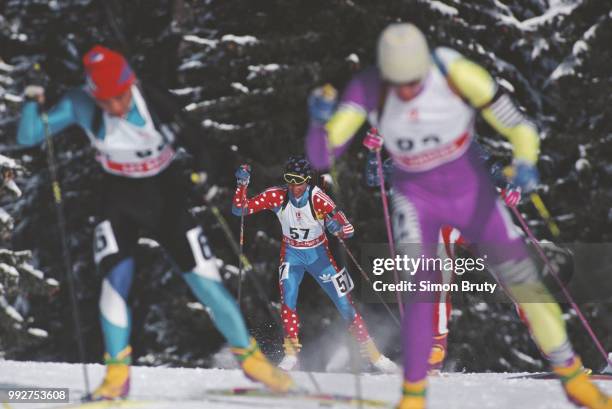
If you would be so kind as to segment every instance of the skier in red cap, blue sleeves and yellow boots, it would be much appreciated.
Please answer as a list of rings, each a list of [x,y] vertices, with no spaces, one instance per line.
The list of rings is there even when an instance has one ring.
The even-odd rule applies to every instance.
[[[202,227],[188,211],[187,198],[193,186],[174,161],[175,143],[195,157],[200,180],[205,174],[200,167],[208,165],[207,170],[212,170],[207,160],[209,145],[202,143],[195,132],[185,132],[185,124],[179,129],[176,109],[167,109],[168,96],[139,87],[122,55],[96,46],[83,62],[87,85],[66,93],[48,115],[39,110],[44,90],[26,88],[29,101],[23,106],[17,140],[36,145],[43,141],[46,130],[56,135],[78,125],[88,135],[105,171],[100,185],[102,222],[95,229],[94,259],[105,277],[100,315],[107,372],[93,398],[116,399],[129,392],[127,299],[141,230],[165,248],[197,299],[210,308],[245,374],[272,389],[289,389],[291,378],[273,367],[249,337],[236,302],[223,287]]]

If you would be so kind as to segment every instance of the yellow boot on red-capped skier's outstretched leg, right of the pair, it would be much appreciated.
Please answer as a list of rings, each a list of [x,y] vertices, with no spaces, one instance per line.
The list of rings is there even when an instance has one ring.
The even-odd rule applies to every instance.
[[[288,392],[295,387],[295,382],[289,374],[268,361],[255,339],[251,338],[246,348],[232,348],[232,353],[240,362],[247,378],[263,383],[274,392]]]

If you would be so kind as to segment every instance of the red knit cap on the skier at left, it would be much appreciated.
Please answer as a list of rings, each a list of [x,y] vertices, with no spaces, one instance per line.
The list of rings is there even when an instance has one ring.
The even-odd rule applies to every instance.
[[[101,45],[85,54],[83,65],[87,73],[87,90],[96,99],[121,95],[136,80],[125,58]]]

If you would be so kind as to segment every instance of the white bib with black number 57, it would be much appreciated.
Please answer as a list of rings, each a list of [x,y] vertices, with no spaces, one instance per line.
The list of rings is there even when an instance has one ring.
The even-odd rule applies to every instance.
[[[313,189],[312,195],[320,190],[316,186],[311,189]],[[299,208],[295,207],[289,200],[284,209],[281,207],[276,212],[283,229],[283,241],[288,245],[298,248],[312,248],[325,241],[324,222],[314,218],[314,211],[311,206],[311,200],[304,207]]]

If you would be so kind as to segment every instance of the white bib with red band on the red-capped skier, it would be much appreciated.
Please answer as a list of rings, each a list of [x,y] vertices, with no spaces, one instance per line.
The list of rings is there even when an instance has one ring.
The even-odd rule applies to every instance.
[[[103,139],[90,134],[97,149],[97,159],[108,173],[130,178],[154,176],[164,170],[174,158],[172,136],[155,129],[146,103],[136,86],[132,98],[143,117],[144,126],[136,126],[126,119],[103,112]]]

